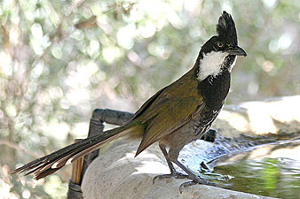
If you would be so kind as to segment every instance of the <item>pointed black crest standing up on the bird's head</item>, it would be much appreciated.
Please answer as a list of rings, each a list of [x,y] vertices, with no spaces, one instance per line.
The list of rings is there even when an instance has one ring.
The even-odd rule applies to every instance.
[[[238,45],[238,37],[233,18],[226,11],[223,11],[222,16],[218,19],[217,34],[221,39]]]

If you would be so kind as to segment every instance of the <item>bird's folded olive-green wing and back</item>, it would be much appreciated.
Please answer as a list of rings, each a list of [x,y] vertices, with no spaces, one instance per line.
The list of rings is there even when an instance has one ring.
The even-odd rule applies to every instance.
[[[187,75],[164,88],[137,119],[146,126],[136,156],[163,136],[188,122],[203,103],[197,82]]]

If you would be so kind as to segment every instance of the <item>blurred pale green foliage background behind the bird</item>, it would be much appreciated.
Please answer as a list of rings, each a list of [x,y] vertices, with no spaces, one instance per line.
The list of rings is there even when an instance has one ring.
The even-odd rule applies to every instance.
[[[233,68],[227,103],[295,95],[297,1],[1,1],[0,198],[64,197],[66,169],[38,181],[8,173],[85,136],[93,109],[135,111],[178,79],[222,10],[249,54]]]

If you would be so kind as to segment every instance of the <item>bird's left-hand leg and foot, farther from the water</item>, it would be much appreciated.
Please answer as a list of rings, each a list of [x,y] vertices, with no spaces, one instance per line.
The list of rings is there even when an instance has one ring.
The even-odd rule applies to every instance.
[[[165,179],[165,178],[176,178],[176,179],[185,179],[187,178],[186,174],[177,172],[174,168],[174,165],[172,164],[172,161],[170,160],[170,157],[168,156],[166,148],[160,143],[159,144],[160,149],[162,150],[162,154],[164,158],[167,161],[167,164],[169,165],[170,168],[170,174],[164,174],[164,175],[157,175],[154,177],[153,183],[155,182],[156,179]]]

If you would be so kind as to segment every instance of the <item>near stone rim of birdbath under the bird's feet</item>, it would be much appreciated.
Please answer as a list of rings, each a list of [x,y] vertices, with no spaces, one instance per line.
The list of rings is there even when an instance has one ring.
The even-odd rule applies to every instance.
[[[186,180],[152,180],[157,174],[170,173],[157,146],[134,158],[138,142],[120,141],[95,159],[83,178],[84,199],[175,199],[175,198],[268,198],[259,195],[194,185],[179,193]]]

